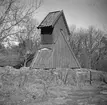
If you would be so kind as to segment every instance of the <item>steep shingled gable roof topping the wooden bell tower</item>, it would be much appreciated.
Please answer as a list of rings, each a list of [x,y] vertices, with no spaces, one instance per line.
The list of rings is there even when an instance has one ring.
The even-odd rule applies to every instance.
[[[38,28],[42,28],[42,27],[54,27],[55,24],[57,23],[58,19],[60,18],[60,16],[63,16],[64,19],[64,23],[66,25],[66,28],[68,30],[68,34],[70,34],[63,10],[61,11],[54,11],[54,12],[49,12],[48,15],[44,18],[44,20],[40,23],[40,25],[38,26]]]

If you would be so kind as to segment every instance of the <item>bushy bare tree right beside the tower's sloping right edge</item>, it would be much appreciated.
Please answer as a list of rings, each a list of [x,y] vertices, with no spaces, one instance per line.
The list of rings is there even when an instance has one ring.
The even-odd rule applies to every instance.
[[[71,47],[82,67],[92,68],[92,65],[95,64],[94,56],[99,49],[102,36],[103,32],[93,26],[87,30],[82,29],[72,35]]]

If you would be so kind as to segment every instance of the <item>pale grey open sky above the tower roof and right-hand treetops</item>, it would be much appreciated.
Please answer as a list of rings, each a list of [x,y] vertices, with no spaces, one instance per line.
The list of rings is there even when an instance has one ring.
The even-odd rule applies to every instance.
[[[107,29],[107,0],[44,0],[34,17],[39,23],[52,11],[63,10],[68,26]]]

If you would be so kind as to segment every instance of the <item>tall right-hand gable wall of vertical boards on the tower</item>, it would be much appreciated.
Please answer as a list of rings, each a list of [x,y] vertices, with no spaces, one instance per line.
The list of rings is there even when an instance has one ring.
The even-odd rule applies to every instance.
[[[78,67],[78,64],[74,58],[74,55],[70,51],[66,41],[64,40],[60,29],[64,31],[65,39],[69,36],[66,26],[63,21],[63,17],[60,17],[58,22],[55,25],[53,30],[55,46],[54,46],[54,53],[53,53],[53,65],[54,67],[64,67],[64,68],[75,68]],[[72,50],[72,49],[71,49]]]

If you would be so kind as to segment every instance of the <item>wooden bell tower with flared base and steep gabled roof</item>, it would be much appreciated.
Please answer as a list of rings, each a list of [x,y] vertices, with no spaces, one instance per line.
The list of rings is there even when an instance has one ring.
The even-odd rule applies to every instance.
[[[41,29],[41,45],[32,68],[80,68],[67,41],[70,32],[63,11],[50,12],[38,29]]]

